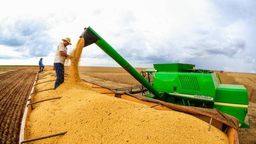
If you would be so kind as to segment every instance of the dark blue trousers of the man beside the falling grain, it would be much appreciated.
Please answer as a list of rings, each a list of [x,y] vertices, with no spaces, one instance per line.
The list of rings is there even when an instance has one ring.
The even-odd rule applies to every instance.
[[[64,65],[62,63],[54,63],[54,67],[57,76],[54,86],[54,89],[56,89],[64,82]]]

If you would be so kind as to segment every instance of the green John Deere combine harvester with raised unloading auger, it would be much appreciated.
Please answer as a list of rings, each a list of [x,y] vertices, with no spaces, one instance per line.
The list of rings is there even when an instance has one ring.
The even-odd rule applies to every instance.
[[[149,70],[150,79],[146,80],[91,27],[85,28],[80,37],[85,39],[84,47],[95,43],[145,86],[150,92],[146,97],[175,105],[217,109],[236,117],[239,127],[249,128],[249,100],[244,86],[220,84],[213,71],[194,69],[195,65],[184,63],[154,64],[154,69]]]

